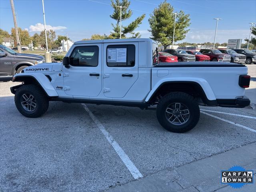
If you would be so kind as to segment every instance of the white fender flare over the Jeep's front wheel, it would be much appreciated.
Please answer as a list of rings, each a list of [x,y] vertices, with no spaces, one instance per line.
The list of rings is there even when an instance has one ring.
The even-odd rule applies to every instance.
[[[49,79],[42,73],[19,73],[14,75],[13,82],[22,82],[25,78],[33,78],[49,97],[59,96]]]

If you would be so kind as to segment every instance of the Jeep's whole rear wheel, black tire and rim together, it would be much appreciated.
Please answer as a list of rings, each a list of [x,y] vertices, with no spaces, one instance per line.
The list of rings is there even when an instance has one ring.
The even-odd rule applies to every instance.
[[[166,130],[184,133],[196,126],[200,109],[196,100],[189,94],[173,92],[160,99],[156,116]]]

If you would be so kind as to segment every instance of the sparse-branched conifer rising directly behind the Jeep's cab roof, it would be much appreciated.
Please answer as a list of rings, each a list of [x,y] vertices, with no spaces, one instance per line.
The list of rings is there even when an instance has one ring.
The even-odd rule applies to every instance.
[[[130,1],[128,0],[111,0],[111,6],[114,8],[114,12],[110,17],[116,20],[116,24],[112,23],[113,32],[110,32],[108,38],[117,39],[120,38],[120,8],[116,6],[124,6],[127,8],[122,8],[122,21],[130,18],[132,16],[132,10],[129,9]],[[142,23],[145,14],[136,18],[133,22],[128,24],[128,26],[122,26],[122,38],[127,38],[128,34],[132,34],[131,38],[140,38],[140,33],[135,33],[134,30]]]

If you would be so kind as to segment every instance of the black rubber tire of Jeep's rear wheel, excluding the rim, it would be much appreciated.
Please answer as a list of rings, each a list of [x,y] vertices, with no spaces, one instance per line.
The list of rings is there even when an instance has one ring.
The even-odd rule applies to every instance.
[[[167,107],[175,102],[186,105],[190,112],[188,121],[184,124],[174,125],[171,124],[166,118]],[[188,132],[198,123],[200,117],[200,109],[196,100],[184,92],[172,92],[162,97],[156,108],[156,116],[158,122],[168,131],[176,133]]]

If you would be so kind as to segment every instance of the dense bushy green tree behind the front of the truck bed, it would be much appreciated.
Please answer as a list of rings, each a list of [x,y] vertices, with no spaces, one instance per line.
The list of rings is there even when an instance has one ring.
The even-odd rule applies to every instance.
[[[148,31],[151,32],[152,39],[161,42],[164,48],[172,44],[174,29],[174,14],[172,12],[174,12],[173,6],[165,0],[158,8],[154,9],[148,19],[150,24]],[[190,26],[189,14],[184,14],[182,10],[177,14],[176,20],[174,42],[183,40],[189,31],[188,26]]]

